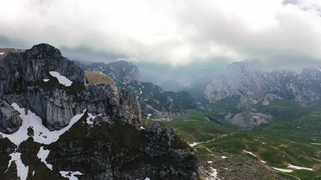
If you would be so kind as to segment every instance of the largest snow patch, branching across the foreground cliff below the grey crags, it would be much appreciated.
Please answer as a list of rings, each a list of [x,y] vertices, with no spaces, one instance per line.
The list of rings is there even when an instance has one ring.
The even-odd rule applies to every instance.
[[[8,137],[14,144],[19,145],[21,142],[25,141],[28,139],[28,128],[32,127],[34,129],[34,141],[39,142],[39,143],[44,143],[44,144],[50,144],[52,142],[55,142],[59,139],[59,136],[63,133],[65,133],[69,128],[76,123],[84,114],[86,111],[83,110],[82,113],[79,113],[75,115],[69,122],[69,124],[60,129],[60,130],[54,130],[50,131],[47,127],[45,127],[42,124],[42,119],[37,116],[35,113],[31,112],[28,110],[28,114],[25,114],[24,108],[20,108],[17,103],[12,104],[16,110],[20,112],[20,116],[23,119],[22,121],[22,126],[19,128],[19,130],[13,134],[4,134],[1,133],[2,136]]]

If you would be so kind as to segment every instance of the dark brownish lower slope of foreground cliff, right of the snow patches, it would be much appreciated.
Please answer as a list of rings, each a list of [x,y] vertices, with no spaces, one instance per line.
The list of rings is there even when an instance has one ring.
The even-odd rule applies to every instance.
[[[133,133],[136,130],[132,126],[120,124],[121,121],[116,120],[110,128],[96,125],[87,129],[91,134],[88,137],[64,134],[61,140],[50,145],[52,153],[59,155],[50,156],[48,161],[59,169],[81,171],[84,173],[81,179],[199,179],[196,150],[186,144],[173,127],[162,128],[158,123],[151,123],[146,130]],[[79,130],[86,128],[79,127]],[[113,137],[100,137],[97,132],[102,128]],[[92,172],[94,174],[89,175]]]

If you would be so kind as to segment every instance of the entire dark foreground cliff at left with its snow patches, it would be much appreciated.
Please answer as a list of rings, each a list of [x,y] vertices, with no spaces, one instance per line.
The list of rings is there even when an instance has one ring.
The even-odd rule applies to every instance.
[[[87,82],[48,44],[0,60],[2,179],[199,178],[195,150],[143,125],[133,93]]]

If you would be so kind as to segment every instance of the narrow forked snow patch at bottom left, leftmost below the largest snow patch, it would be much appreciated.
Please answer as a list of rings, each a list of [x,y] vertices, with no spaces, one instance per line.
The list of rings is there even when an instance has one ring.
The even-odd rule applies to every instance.
[[[8,169],[9,169],[12,161],[15,161],[16,165],[17,165],[18,177],[20,177],[21,180],[26,180],[27,177],[28,177],[29,166],[28,165],[26,166],[22,162],[21,153],[20,152],[13,152],[13,153],[10,154],[10,156],[11,156],[11,159],[10,159],[9,164],[8,164]],[[7,172],[7,170],[6,170],[6,172]]]

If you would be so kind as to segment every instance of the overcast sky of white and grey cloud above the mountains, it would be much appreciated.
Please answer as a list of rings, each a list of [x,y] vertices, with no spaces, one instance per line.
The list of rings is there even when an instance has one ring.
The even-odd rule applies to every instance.
[[[321,0],[3,0],[0,47],[71,59],[321,65]]]

